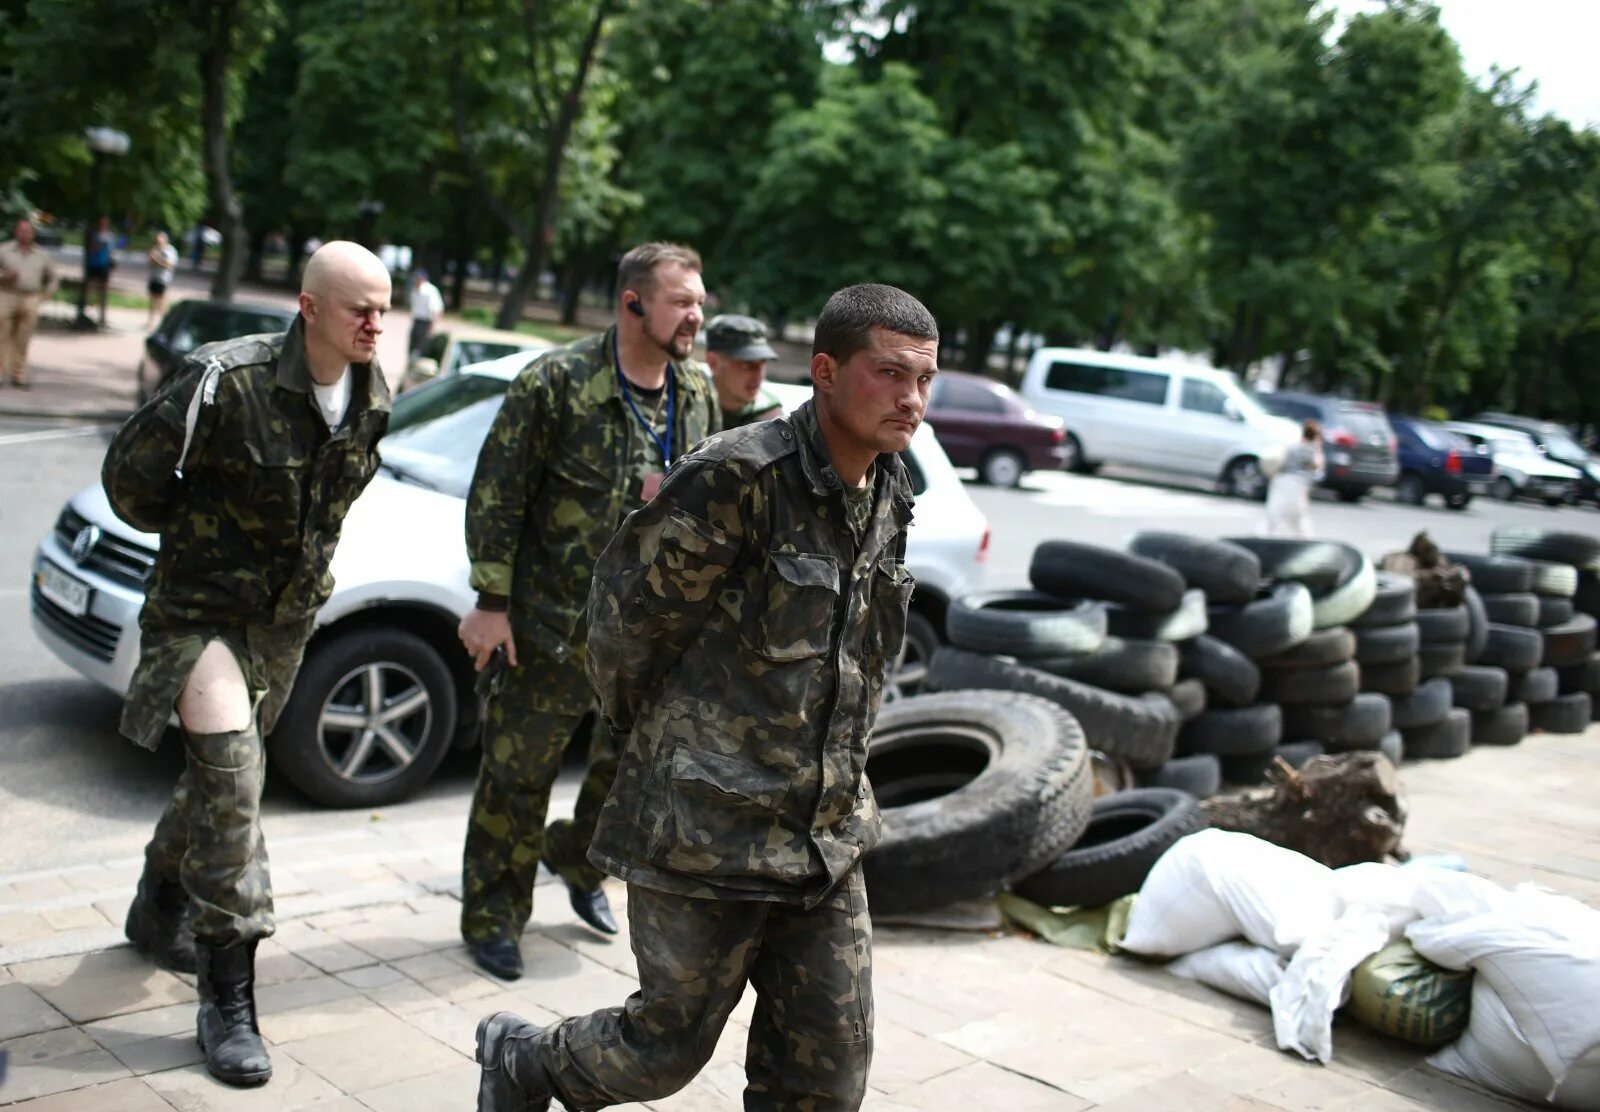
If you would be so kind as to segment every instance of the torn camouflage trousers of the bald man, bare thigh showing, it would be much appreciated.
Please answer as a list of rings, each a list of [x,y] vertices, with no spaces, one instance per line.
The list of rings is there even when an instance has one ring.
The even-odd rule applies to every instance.
[[[184,771],[144,850],[147,867],[178,880],[195,906],[195,936],[219,947],[272,934],[272,878],[261,837],[262,738],[294,686],[310,621],[243,630],[146,629],[123,707],[123,733],[160,736],[200,653],[227,645],[250,688],[256,723],[235,733],[184,731]],[[158,723],[158,725],[157,725]]]

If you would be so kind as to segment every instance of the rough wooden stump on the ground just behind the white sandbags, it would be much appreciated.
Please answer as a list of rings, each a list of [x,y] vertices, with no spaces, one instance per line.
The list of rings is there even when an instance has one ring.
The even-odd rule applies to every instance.
[[[1333,869],[1400,853],[1405,792],[1382,754],[1314,757],[1299,771],[1278,758],[1269,779],[1205,800],[1211,826],[1254,834]]]

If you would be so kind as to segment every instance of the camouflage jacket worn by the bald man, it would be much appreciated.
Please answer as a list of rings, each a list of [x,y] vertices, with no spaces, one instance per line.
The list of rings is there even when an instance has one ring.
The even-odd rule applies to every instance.
[[[186,416],[208,368],[214,394],[182,454]],[[389,386],[378,362],[350,368],[333,434],[317,410],[302,323],[197,349],[117,432],[101,482],[134,528],[162,534],[144,624],[277,624],[333,592],[344,515],[378,469]]]

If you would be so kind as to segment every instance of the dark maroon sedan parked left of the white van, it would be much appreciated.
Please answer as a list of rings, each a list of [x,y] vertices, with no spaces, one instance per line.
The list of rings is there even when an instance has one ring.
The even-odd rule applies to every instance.
[[[978,374],[941,371],[928,398],[928,424],[957,467],[976,467],[992,486],[1016,486],[1030,470],[1061,470],[1067,430],[1016,390]]]

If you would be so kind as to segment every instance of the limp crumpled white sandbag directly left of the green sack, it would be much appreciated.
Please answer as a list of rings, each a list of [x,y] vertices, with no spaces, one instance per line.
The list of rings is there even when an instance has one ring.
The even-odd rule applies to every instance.
[[[1379,910],[1349,910],[1307,938],[1272,989],[1278,1050],[1323,1064],[1333,1061],[1333,1013],[1350,995],[1355,966],[1386,946],[1389,918]]]

